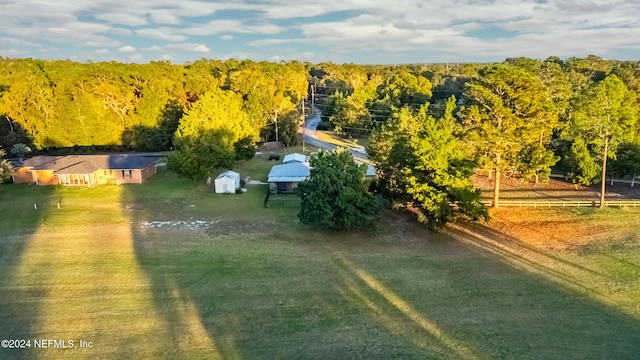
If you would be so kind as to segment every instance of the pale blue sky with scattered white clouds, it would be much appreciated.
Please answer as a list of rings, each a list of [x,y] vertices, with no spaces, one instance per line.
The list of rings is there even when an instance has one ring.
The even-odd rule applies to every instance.
[[[0,56],[146,63],[640,60],[640,0],[0,0]]]

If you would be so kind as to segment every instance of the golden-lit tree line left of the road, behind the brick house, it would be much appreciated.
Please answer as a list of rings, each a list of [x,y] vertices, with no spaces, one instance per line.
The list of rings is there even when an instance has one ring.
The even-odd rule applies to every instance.
[[[287,114],[306,97],[307,68],[295,61],[175,65],[0,58],[0,145],[168,150],[180,121],[212,91],[237,97],[249,119],[247,132],[256,141],[268,140],[274,111]]]

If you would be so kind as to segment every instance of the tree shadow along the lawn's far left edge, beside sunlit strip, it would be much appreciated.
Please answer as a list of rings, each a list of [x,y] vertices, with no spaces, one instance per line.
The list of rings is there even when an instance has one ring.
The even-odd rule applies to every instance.
[[[40,313],[46,289],[40,280],[48,266],[22,264],[32,236],[56,206],[55,188],[26,185],[0,185],[0,339],[32,340],[41,329]],[[36,204],[37,209],[34,208]],[[31,359],[31,348],[0,349],[2,359]]]

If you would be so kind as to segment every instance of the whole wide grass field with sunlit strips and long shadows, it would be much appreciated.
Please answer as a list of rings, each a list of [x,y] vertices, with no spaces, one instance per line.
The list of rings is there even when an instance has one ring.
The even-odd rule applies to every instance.
[[[218,195],[168,172],[1,187],[0,338],[76,347],[0,358],[640,356],[640,211],[503,209],[440,234],[387,212],[333,233],[264,208],[265,191]]]

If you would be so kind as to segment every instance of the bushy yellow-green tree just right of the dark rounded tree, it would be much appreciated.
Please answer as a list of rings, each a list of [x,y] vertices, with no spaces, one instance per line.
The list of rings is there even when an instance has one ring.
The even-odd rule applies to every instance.
[[[441,119],[427,115],[426,105],[416,114],[403,108],[374,131],[367,148],[387,194],[397,206],[416,210],[430,228],[456,216],[488,217],[470,180],[473,163],[456,136],[454,107],[452,97]]]

